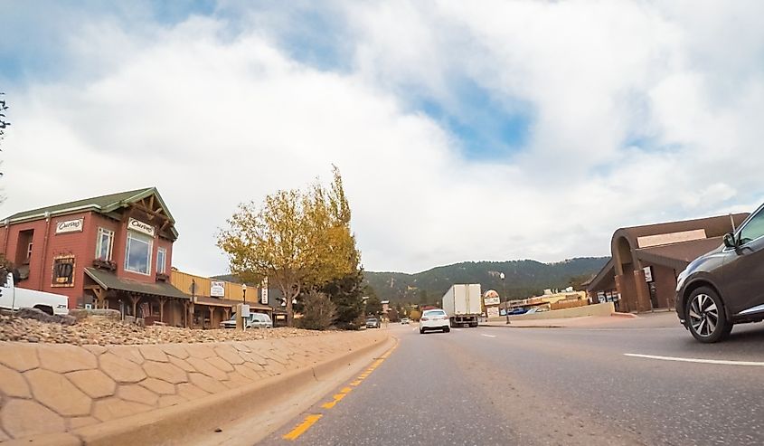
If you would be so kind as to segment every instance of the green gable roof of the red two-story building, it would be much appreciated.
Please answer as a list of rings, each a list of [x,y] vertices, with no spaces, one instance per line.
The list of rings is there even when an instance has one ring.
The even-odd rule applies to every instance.
[[[45,218],[46,214],[65,215],[65,214],[75,214],[75,213],[87,212],[87,211],[97,212],[99,214],[108,214],[110,212],[118,210],[121,207],[127,207],[127,205],[129,204],[135,204],[139,202],[140,200],[143,200],[144,198],[149,197],[151,195],[155,196],[156,201],[159,203],[159,205],[162,206],[162,211],[170,220],[170,222],[175,223],[173,215],[170,214],[170,210],[167,208],[167,205],[165,204],[165,201],[162,199],[162,196],[159,195],[159,192],[156,190],[156,187],[146,187],[143,189],[119,192],[118,194],[100,195],[100,196],[94,196],[91,198],[86,198],[84,200],[77,200],[77,201],[68,202],[68,203],[54,204],[52,206],[40,207],[37,209],[32,209],[30,211],[24,211],[24,212],[13,214],[7,217],[5,220],[8,223],[20,223],[20,222],[39,220],[39,219]],[[175,237],[178,236],[177,231],[175,231],[174,227],[172,228],[172,232]]]

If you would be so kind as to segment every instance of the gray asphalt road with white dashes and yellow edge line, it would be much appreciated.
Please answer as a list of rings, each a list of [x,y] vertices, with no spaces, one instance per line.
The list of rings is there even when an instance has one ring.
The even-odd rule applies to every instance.
[[[260,444],[764,444],[762,324],[711,346],[682,327],[391,331],[363,379]]]

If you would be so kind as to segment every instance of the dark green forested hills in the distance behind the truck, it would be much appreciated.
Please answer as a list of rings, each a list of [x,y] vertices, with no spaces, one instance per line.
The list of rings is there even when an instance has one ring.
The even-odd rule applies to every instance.
[[[502,294],[499,273],[505,273],[506,294],[510,299],[524,299],[543,289],[563,289],[571,278],[588,277],[599,272],[608,257],[581,257],[556,263],[540,261],[465,261],[432,270],[403,272],[364,271],[365,280],[382,300],[425,303],[438,301],[454,283],[479,283],[485,292],[495,289]]]

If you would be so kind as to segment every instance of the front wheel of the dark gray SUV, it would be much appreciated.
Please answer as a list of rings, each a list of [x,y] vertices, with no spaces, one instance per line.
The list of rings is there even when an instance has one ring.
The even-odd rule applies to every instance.
[[[695,289],[687,299],[684,314],[687,329],[703,344],[719,342],[732,331],[722,298],[711,288]]]

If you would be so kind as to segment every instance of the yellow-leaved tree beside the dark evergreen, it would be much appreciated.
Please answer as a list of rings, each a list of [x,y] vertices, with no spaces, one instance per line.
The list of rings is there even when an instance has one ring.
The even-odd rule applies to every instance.
[[[358,268],[360,253],[350,230],[350,206],[342,176],[326,189],[318,181],[307,191],[278,191],[260,205],[240,204],[218,233],[231,273],[245,282],[268,277],[287,304],[293,326],[293,300]]]

